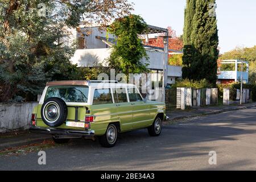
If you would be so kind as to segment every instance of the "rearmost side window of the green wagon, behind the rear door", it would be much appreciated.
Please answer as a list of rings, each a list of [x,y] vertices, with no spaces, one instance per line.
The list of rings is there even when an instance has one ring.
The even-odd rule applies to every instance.
[[[93,96],[93,105],[112,104],[110,89],[95,89]]]

